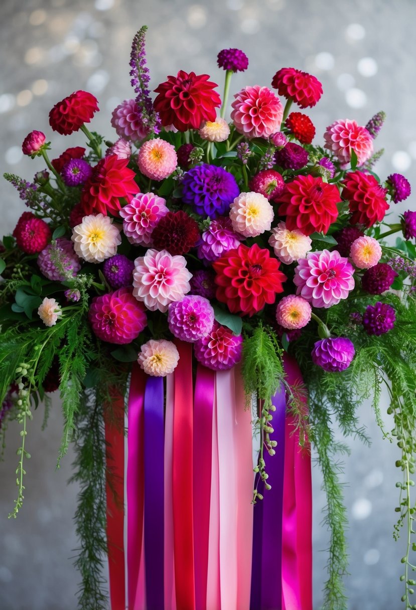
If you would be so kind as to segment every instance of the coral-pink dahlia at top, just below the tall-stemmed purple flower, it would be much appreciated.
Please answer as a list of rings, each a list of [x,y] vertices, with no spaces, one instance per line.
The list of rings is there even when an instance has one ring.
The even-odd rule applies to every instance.
[[[234,97],[231,119],[239,134],[246,138],[268,138],[279,130],[283,106],[269,88],[245,87]]]

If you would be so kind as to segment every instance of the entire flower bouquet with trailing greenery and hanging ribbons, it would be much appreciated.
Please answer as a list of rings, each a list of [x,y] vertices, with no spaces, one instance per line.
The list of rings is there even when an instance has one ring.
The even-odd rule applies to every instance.
[[[282,533],[281,526],[290,493],[287,473],[292,472],[287,447],[295,439],[295,464],[299,451],[308,463],[312,442],[323,471],[325,520],[331,531],[325,608],[340,610],[346,607],[342,576],[348,565],[337,453],[346,448],[335,441],[334,426],[367,441],[356,409],[372,397],[383,436],[401,449],[395,537],[407,528],[402,601],[406,608],[416,608],[410,558],[416,548],[410,497],[416,453],[416,212],[402,213],[401,223],[387,220],[390,204],[404,201],[411,188],[400,174],[381,183],[373,172],[382,152],[373,145],[384,113],[365,127],[336,120],[326,129],[323,146],[314,145],[314,124],[291,107],[293,102],[302,110],[315,106],[321,84],[310,74],[282,68],[271,86],[285,106],[268,87],[245,87],[234,95],[228,123],[231,76],[248,68],[238,49],[218,54],[218,66],[226,72],[222,104],[209,76],[182,70],[168,76],[152,100],[145,32],[142,27],[134,38],[131,54],[137,97],[112,113],[118,140],[107,142],[88,131],[98,102],[90,93],[76,91],[52,108],[49,124],[62,135],[81,129],[87,148],[67,148],[49,160],[46,136],[32,131],[23,152],[43,158],[46,169],[32,182],[5,174],[29,208],[13,235],[4,237],[0,260],[0,435],[4,439],[13,420],[22,428],[12,516],[23,503],[28,422],[44,402],[46,423],[49,393],[59,388],[65,417],[59,460],[72,440],[77,451],[73,479],[81,485],[76,513],[76,565],[83,581],[79,603],[83,609],[107,607],[101,569],[107,540],[123,546],[123,522],[120,537],[117,519],[123,512],[124,395],[131,380],[127,500],[129,485],[138,499],[128,504],[129,608],[142,608],[145,597],[148,608],[178,610],[242,610],[250,603],[253,609],[280,608],[281,603],[287,610],[312,607],[310,590],[304,590],[310,578],[306,564],[292,589],[295,597],[285,589],[295,578],[284,550],[284,532],[290,528],[283,527]],[[392,246],[384,238],[395,232],[403,237]],[[231,390],[224,389],[230,379]],[[393,415],[390,432],[379,408],[384,386]],[[279,412],[281,387],[285,398]],[[205,420],[198,411],[201,404],[207,406]],[[241,417],[248,422],[243,450],[238,432],[237,444],[232,444],[234,416],[235,422]],[[251,424],[259,443],[254,476]],[[284,439],[285,426],[289,434]],[[239,456],[243,468],[248,456],[248,479]],[[271,476],[273,464],[281,465],[284,483],[280,475]],[[201,473],[209,474],[205,487]],[[303,474],[305,487],[298,481],[296,493],[307,495],[310,472],[309,478]],[[224,480],[230,497],[235,493],[238,500],[242,481],[248,480],[250,496],[254,481],[245,531],[238,522],[245,503],[237,504],[238,511],[232,503],[228,508],[223,504]],[[272,496],[275,487],[279,496]],[[214,510],[218,502],[219,514]],[[303,505],[298,497],[298,533],[299,502]],[[304,505],[308,502],[306,498]],[[212,533],[215,514],[220,542]],[[304,515],[307,523],[309,517]],[[279,519],[280,533],[273,538],[273,523]],[[236,539],[229,538],[232,527],[221,529],[223,521],[225,526],[234,523]],[[237,584],[232,583],[232,558],[226,554],[231,551],[224,550],[223,535],[230,547],[234,540],[235,556],[242,548],[249,555],[246,560],[234,557]],[[308,536],[310,531],[305,540]],[[277,545],[269,559],[276,555],[283,574],[276,577],[277,601],[267,600],[274,586],[274,564],[264,563],[269,537]],[[215,553],[212,559],[215,544],[217,564]],[[125,608],[123,549],[109,548],[110,559],[112,552],[117,559],[113,565],[110,561],[112,607]],[[296,553],[301,556],[298,546]],[[245,571],[240,561],[246,561]],[[115,570],[122,571],[122,585]],[[215,570],[220,581],[215,581]],[[145,584],[140,584],[143,578]],[[117,597],[120,586],[123,592]]]

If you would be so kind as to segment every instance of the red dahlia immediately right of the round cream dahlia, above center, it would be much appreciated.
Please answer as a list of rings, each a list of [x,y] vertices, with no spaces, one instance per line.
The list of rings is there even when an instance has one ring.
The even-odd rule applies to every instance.
[[[298,176],[286,184],[279,201],[279,214],[286,217],[287,229],[310,235],[315,231],[326,233],[337,220],[340,194],[334,184],[324,182],[320,176]]]

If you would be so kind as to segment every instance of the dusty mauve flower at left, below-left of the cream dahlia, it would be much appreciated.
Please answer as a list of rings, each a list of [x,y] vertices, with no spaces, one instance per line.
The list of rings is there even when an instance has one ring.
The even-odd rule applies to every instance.
[[[76,276],[81,269],[81,259],[75,254],[73,242],[59,237],[39,253],[38,266],[45,278],[52,282],[63,282]]]

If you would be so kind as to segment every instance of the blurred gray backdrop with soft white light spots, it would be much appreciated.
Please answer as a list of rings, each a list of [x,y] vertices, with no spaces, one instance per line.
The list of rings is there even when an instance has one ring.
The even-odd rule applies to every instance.
[[[249,69],[235,76],[232,91],[268,85],[283,66],[310,71],[323,83],[318,106],[307,111],[322,142],[325,127],[339,118],[359,124],[378,110],[387,122],[376,141],[386,154],[376,170],[382,178],[398,171],[416,189],[416,3],[414,0],[1,0],[0,3],[0,170],[31,179],[42,162],[22,156],[21,142],[38,129],[58,156],[82,137],[51,131],[48,112],[77,89],[91,91],[102,110],[92,129],[114,137],[110,113],[126,97],[129,52],[137,29],[147,24],[148,63],[154,87],[179,69],[208,73],[223,86],[216,57],[223,48],[243,49]],[[152,88],[154,88],[152,87]],[[23,212],[13,188],[3,183],[1,234],[12,231]],[[396,213],[412,200],[396,206]],[[41,432],[42,409],[29,426],[26,498],[17,520],[7,520],[15,497],[18,430],[9,429],[0,464],[1,610],[74,610],[78,576],[71,557],[77,541],[73,514],[75,486],[66,486],[72,455],[56,472],[62,417],[55,397],[49,426]],[[370,407],[360,416],[373,444],[351,440],[345,495],[350,528],[350,610],[395,610],[400,603],[400,557],[395,544],[396,448],[381,439]],[[386,416],[387,423],[389,418]],[[321,528],[325,497],[314,468],[314,609],[320,608],[326,578]],[[214,610],[214,609],[212,609]],[[227,609],[224,609],[227,610]]]

